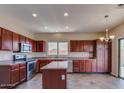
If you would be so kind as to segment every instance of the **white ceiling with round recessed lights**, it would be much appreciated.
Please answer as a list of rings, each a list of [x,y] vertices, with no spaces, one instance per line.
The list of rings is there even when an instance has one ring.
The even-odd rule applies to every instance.
[[[124,21],[124,9],[116,7],[115,4],[0,5],[0,16],[14,19],[18,23],[16,25],[34,33],[101,32],[105,31],[106,14],[110,16],[109,28]],[[64,12],[69,16],[64,17]],[[37,13],[38,17],[34,18],[32,13]],[[45,30],[44,26],[48,29]]]

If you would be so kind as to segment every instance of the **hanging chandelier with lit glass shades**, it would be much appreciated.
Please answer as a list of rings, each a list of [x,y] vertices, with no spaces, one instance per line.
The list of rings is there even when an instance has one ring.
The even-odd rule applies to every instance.
[[[112,39],[114,39],[115,38],[115,36],[114,35],[109,35],[109,30],[108,30],[108,28],[107,28],[107,26],[108,26],[108,24],[107,24],[107,21],[108,21],[108,15],[105,15],[104,16],[105,17],[105,19],[106,19],[106,29],[105,29],[105,37],[100,37],[100,40],[101,41],[105,41],[105,42],[110,42]]]

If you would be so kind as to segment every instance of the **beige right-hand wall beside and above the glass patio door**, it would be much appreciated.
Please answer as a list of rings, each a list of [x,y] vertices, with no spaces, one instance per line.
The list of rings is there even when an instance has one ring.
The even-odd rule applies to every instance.
[[[118,39],[124,38],[124,23],[113,28],[110,34],[115,35],[112,41],[112,74],[118,76]]]

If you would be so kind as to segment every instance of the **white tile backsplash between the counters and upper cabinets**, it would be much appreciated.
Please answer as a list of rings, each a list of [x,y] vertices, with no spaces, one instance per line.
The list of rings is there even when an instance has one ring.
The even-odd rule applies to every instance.
[[[13,55],[15,54],[23,54],[23,53],[13,53],[13,52],[7,52],[7,51],[0,51],[0,61],[3,60],[13,60]],[[28,58],[31,57],[49,57],[47,56],[47,54],[44,53],[24,53],[27,55]],[[70,52],[69,55],[67,56],[60,56],[60,57],[93,57],[93,53],[89,53],[89,52]]]

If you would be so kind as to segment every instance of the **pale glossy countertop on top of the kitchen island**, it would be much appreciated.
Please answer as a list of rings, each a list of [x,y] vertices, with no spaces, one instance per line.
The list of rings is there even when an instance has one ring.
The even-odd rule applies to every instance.
[[[68,61],[53,61],[48,65],[42,67],[41,69],[67,69],[68,68]]]

